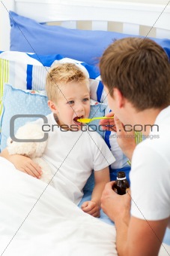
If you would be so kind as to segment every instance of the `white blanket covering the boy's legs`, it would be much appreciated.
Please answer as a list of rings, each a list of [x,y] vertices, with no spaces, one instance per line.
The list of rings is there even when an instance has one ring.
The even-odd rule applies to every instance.
[[[46,186],[0,157],[1,255],[117,255],[114,226]]]

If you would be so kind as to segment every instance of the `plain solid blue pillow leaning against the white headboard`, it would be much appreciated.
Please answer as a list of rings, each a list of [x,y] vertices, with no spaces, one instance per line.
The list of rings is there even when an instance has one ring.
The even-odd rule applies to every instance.
[[[129,36],[118,32],[65,29],[46,26],[10,11],[10,50],[37,55],[61,54],[94,65],[115,39]],[[22,32],[21,32],[22,31]],[[170,40],[152,38],[170,58]]]

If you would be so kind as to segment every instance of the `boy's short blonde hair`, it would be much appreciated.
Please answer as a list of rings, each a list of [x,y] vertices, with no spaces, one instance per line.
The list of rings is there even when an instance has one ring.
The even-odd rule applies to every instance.
[[[58,63],[46,77],[46,93],[52,102],[62,95],[62,87],[70,82],[85,83],[89,89],[89,81],[85,72],[73,63]]]

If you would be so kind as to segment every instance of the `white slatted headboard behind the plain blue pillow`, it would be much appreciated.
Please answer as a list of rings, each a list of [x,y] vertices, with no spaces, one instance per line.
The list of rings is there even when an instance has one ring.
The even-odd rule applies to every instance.
[[[112,0],[1,0],[0,49],[10,49],[8,11],[67,28],[170,38],[170,6]],[[104,38],[103,38],[104,40]]]

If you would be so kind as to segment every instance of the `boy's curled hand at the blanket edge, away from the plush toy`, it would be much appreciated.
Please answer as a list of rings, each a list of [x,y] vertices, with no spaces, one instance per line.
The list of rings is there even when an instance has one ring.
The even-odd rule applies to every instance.
[[[92,215],[97,218],[100,217],[100,206],[96,202],[86,201],[82,203],[81,208],[83,212],[86,212],[89,215]]]

